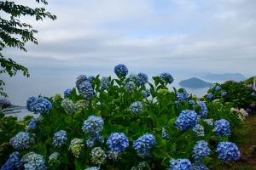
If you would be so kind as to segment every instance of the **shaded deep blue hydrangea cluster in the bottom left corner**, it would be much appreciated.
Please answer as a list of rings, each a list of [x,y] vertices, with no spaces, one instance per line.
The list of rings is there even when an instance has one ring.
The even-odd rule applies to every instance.
[[[1,170],[4,169],[20,169],[23,165],[19,158],[19,152],[15,151],[9,155],[9,159],[6,161],[6,163],[3,165]]]

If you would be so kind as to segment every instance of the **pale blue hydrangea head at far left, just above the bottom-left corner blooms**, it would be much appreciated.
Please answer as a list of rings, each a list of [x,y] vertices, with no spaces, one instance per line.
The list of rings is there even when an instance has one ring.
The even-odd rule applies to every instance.
[[[29,148],[30,140],[29,133],[20,132],[15,135],[15,138],[10,142],[10,144],[15,148],[15,150],[24,150]]]

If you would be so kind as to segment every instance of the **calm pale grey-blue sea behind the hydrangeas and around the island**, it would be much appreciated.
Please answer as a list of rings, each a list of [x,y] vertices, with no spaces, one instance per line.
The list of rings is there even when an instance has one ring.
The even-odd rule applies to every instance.
[[[11,101],[12,105],[20,105],[25,106],[26,100],[31,97],[38,95],[46,96],[46,97],[53,97],[55,94],[61,94],[63,96],[64,91],[67,88],[74,88],[75,81],[79,74],[35,74],[32,75],[30,78],[26,77],[4,77],[3,81],[5,82],[6,86],[4,87],[4,92],[9,95],[9,100]],[[89,76],[89,75],[88,75]],[[105,76],[105,75],[103,75]],[[108,75],[106,75],[108,76]],[[111,77],[115,77],[115,75],[110,75]],[[159,76],[159,75],[148,75],[148,82],[153,83],[153,79],[149,77]],[[100,76],[101,78],[102,76]],[[195,77],[192,75],[183,75],[180,73],[172,74],[174,78],[174,82],[169,84],[167,87],[170,91],[173,91],[173,88],[179,89],[183,88],[178,83]],[[218,82],[222,83],[224,81],[216,81],[216,80],[207,80],[201,77],[201,80],[205,82]],[[173,88],[172,88],[173,87]],[[149,88],[149,86],[147,86]],[[185,88],[188,94],[196,95],[197,97],[201,97],[207,94],[207,88]],[[27,111],[26,109],[16,110],[20,111],[18,113],[7,114],[6,116],[17,116],[19,120],[22,120],[24,116],[30,115],[37,117],[38,115],[34,115],[32,112]]]

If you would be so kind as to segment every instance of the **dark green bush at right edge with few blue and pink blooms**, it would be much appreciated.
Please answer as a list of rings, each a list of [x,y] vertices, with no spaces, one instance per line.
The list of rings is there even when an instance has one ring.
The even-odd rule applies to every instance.
[[[226,92],[226,93],[224,93]],[[212,97],[211,94],[213,95]],[[251,114],[256,114],[256,88],[244,82],[227,81],[222,84],[215,83],[213,88],[205,95],[207,101],[218,99],[221,104],[228,104],[237,109],[249,109]]]

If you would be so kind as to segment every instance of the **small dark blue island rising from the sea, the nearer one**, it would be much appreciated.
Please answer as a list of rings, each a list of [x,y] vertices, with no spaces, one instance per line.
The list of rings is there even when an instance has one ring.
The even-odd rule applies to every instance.
[[[213,84],[211,82],[205,82],[202,81],[199,78],[193,77],[193,78],[189,78],[187,80],[183,80],[181,82],[178,83],[180,86],[182,87],[186,87],[186,88],[209,88],[209,87],[213,87]]]

